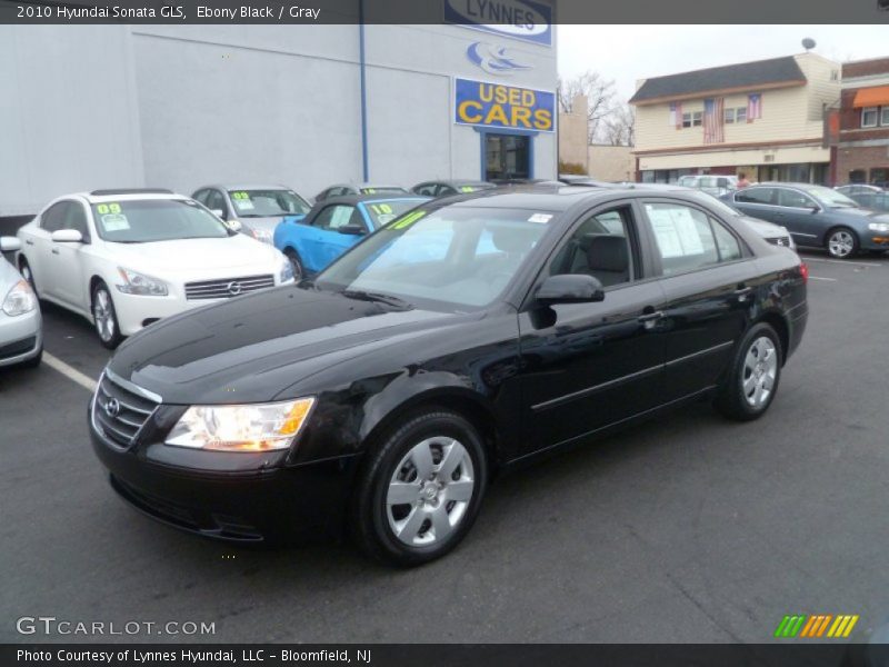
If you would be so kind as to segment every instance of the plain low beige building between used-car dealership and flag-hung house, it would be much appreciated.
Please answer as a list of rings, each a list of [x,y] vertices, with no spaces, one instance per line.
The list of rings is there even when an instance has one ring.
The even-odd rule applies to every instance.
[[[636,180],[636,158],[629,146],[589,146],[587,131],[587,98],[571,101],[570,113],[559,113],[559,161],[583,167],[596,180]]]

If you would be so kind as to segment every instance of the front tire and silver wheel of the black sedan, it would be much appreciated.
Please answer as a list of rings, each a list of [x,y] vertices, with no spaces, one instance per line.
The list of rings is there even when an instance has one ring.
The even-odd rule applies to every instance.
[[[401,567],[444,556],[469,532],[485,497],[481,437],[460,415],[430,409],[407,416],[380,442],[352,496],[353,538],[371,558]]]

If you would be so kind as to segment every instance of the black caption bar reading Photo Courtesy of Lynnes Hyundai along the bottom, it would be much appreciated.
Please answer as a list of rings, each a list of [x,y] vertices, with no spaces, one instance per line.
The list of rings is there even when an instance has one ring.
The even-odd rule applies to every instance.
[[[351,665],[361,667],[560,667],[606,665],[633,667],[887,667],[889,646],[867,644],[572,644],[572,645],[10,645],[0,646],[4,667],[284,667]]]

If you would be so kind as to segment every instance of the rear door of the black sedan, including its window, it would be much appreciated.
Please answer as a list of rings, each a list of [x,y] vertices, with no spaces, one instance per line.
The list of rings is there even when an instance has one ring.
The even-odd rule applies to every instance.
[[[763,279],[743,240],[709,210],[657,199],[642,209],[662,276],[656,315],[666,339],[661,400],[668,402],[719,381]]]

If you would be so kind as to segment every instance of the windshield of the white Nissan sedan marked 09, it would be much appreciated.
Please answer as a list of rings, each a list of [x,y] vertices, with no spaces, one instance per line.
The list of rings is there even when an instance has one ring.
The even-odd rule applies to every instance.
[[[92,205],[96,229],[106,241],[148,243],[174,239],[221,239],[222,221],[189,199],[136,199]]]

